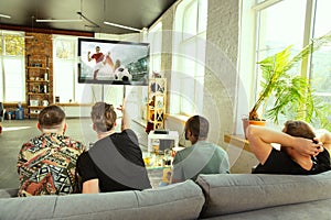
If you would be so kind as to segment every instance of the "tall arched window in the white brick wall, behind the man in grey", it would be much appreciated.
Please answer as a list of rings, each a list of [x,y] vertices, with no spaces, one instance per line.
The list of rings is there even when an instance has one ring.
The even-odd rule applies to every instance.
[[[171,77],[172,114],[202,111],[207,1],[184,0],[174,20]]]

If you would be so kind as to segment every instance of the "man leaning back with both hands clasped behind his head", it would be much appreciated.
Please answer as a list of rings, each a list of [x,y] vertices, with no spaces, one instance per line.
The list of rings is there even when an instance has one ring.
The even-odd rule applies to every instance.
[[[331,169],[330,132],[324,130],[316,138],[312,128],[303,121],[287,121],[282,132],[249,125],[247,138],[252,152],[260,162],[253,170],[255,174],[309,175]],[[279,143],[280,151],[271,143]]]

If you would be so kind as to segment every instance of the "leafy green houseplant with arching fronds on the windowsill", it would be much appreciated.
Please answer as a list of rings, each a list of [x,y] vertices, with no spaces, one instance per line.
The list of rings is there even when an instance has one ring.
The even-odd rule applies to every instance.
[[[317,38],[307,45],[296,56],[291,57],[291,46],[258,62],[261,68],[261,91],[249,112],[249,120],[261,121],[258,116],[259,108],[267,119],[278,123],[279,116],[290,117],[293,120],[312,122],[318,120],[320,125],[327,128],[330,107],[319,97],[314,96],[307,77],[291,74],[291,68],[303,61],[323,44],[331,42],[331,34]],[[273,95],[273,96],[271,96]],[[273,97],[273,99],[270,99]],[[266,111],[266,103],[274,101],[273,108]]]

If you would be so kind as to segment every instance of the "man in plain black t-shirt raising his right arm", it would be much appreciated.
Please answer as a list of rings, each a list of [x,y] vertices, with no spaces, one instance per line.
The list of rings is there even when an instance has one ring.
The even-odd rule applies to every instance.
[[[97,102],[92,108],[93,129],[98,141],[77,161],[83,194],[151,188],[138,138],[129,128],[125,103],[121,132],[115,132],[117,113],[113,105]]]

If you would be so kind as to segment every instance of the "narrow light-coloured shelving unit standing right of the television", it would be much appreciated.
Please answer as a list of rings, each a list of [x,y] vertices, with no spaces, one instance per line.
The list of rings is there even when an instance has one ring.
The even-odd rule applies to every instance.
[[[167,103],[167,79],[152,78],[148,87],[149,103],[147,106],[147,120],[153,124],[153,130],[164,129]]]

